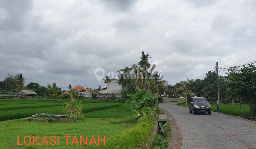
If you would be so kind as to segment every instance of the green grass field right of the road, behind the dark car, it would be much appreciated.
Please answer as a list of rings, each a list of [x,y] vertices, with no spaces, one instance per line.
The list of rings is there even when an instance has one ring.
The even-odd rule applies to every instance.
[[[212,107],[212,111],[217,112],[217,106],[216,104],[210,104]],[[185,105],[179,105],[182,107],[188,107],[189,104]],[[239,105],[238,105],[239,106]],[[220,104],[219,110],[221,113],[228,114],[228,115],[236,115],[240,116],[240,111],[236,108],[236,104]],[[242,111],[244,113],[244,116],[251,116],[250,108],[247,104],[243,105]]]

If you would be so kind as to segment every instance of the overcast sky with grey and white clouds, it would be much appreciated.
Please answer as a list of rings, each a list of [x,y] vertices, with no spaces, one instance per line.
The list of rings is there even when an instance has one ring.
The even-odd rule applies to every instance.
[[[202,78],[256,54],[256,1],[0,0],[1,81],[97,88],[96,68],[115,72],[142,51],[169,82]]]

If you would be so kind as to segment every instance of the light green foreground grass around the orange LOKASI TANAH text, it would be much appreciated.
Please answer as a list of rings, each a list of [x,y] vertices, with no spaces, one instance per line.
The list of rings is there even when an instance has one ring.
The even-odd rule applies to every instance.
[[[113,118],[85,118],[83,120],[73,122],[73,123],[40,123],[35,121],[27,122],[24,119],[2,121],[0,122],[0,148],[23,148],[17,146],[17,136],[24,137],[29,136],[60,136],[60,145],[47,146],[44,145],[30,145],[30,148],[81,148],[75,146],[66,146],[64,135],[71,136],[88,136],[92,135],[106,136],[106,143],[110,141],[110,138],[126,131],[128,128],[133,128],[135,126],[132,123],[121,123],[112,124]],[[118,138],[115,138],[119,142]],[[39,139],[41,143],[42,137]],[[88,140],[89,143],[90,140]],[[71,142],[71,140],[69,140]],[[28,148],[27,147],[27,148]],[[92,148],[93,146],[82,146],[87,148]],[[101,143],[102,147],[102,143]]]

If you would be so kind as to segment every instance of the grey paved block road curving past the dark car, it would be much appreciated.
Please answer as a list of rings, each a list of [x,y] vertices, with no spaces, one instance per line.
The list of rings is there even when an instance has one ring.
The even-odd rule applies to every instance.
[[[193,115],[186,107],[165,101],[159,107],[168,111],[182,133],[181,148],[256,148],[256,125],[234,116],[212,112]]]

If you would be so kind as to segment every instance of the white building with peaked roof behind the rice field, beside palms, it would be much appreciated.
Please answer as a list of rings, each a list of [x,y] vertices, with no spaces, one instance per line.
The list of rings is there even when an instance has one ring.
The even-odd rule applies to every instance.
[[[105,98],[108,95],[110,96],[112,93],[116,96],[116,97],[122,97],[121,95],[121,90],[122,89],[122,85],[118,84],[118,80],[113,78],[111,79],[111,82],[108,84],[108,90],[107,88],[104,90],[101,90],[100,93],[98,93],[97,98]],[[108,92],[108,94],[107,94]]]

